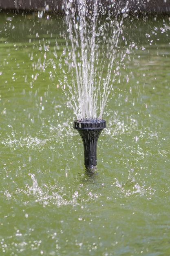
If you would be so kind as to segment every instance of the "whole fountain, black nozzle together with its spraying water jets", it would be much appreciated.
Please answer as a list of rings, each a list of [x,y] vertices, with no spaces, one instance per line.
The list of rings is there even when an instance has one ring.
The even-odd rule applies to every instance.
[[[117,64],[114,71],[116,73],[125,57],[124,54],[121,61],[115,63],[123,19],[127,16],[128,1],[123,9],[119,8],[119,4],[115,4],[117,11],[114,19],[110,18],[107,10],[107,22],[104,24],[102,15],[106,14],[106,10],[99,0],[91,0],[88,3],[86,0],[67,0],[64,3],[68,28],[68,35],[65,37],[69,38],[71,44],[65,63],[71,72],[72,84],[67,81],[65,68],[64,79],[70,92],[71,106],[77,116],[74,128],[79,132],[84,144],[84,164],[87,170],[94,170],[97,165],[97,140],[106,127],[102,115],[115,81],[113,67]],[[121,18],[118,18],[119,14]],[[99,60],[101,54],[102,60]],[[106,76],[103,77],[106,68]]]

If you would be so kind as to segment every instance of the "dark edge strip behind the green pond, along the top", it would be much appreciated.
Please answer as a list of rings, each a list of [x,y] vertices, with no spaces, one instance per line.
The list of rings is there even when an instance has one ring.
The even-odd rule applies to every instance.
[[[114,11],[118,3],[122,8],[126,0],[101,0],[105,9]],[[109,7],[111,6],[112,7]],[[170,0],[129,0],[128,8],[140,13],[170,13]],[[62,0],[0,0],[0,10],[53,11],[62,12]]]

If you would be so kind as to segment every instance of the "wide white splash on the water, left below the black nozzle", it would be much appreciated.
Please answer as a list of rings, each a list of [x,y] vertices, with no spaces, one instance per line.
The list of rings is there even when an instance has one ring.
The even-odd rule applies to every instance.
[[[58,182],[55,185],[52,185],[50,182],[39,185],[35,174],[29,173],[29,176],[31,177],[31,184],[26,184],[24,189],[16,186],[15,193],[13,191],[11,193],[4,191],[4,196],[11,200],[13,197],[18,198],[18,196],[22,195],[22,203],[24,205],[38,203],[43,207],[50,205],[56,205],[57,207],[82,206],[101,197],[100,193],[89,191],[88,188],[82,191],[82,184],[66,192],[66,187],[61,186]]]

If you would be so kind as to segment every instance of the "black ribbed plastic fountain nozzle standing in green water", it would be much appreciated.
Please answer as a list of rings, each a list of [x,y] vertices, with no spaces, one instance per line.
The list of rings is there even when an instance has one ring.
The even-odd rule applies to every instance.
[[[105,120],[74,121],[74,128],[79,132],[84,144],[84,164],[86,170],[95,170],[97,165],[97,141],[106,128]]]

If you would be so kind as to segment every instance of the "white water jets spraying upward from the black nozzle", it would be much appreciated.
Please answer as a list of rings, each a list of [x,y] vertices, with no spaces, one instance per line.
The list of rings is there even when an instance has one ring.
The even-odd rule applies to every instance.
[[[115,13],[108,10],[107,15],[99,0],[67,0],[64,9],[67,44],[63,51],[65,64],[60,66],[64,88],[68,87],[67,96],[78,120],[101,120],[115,76],[124,65],[126,54],[120,56],[118,44],[128,1],[123,9],[116,4]]]

